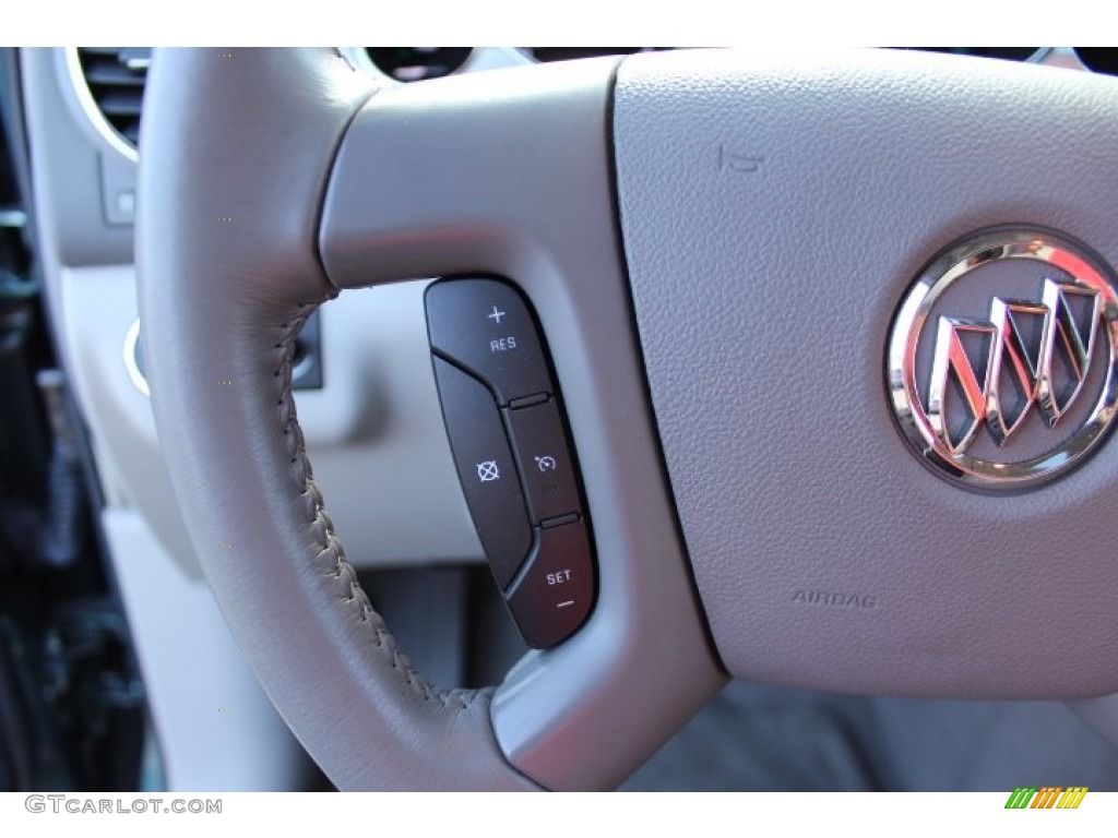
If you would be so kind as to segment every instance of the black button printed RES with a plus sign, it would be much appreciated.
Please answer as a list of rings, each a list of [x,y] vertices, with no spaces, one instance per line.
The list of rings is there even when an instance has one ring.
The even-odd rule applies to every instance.
[[[501,404],[551,391],[536,324],[512,287],[494,279],[435,283],[426,305],[432,347],[489,384]]]

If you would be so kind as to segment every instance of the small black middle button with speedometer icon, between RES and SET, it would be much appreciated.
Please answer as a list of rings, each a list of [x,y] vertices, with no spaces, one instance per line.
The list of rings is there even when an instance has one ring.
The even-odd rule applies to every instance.
[[[512,449],[524,476],[532,523],[580,512],[575,464],[556,400],[505,410],[504,415],[512,432]]]

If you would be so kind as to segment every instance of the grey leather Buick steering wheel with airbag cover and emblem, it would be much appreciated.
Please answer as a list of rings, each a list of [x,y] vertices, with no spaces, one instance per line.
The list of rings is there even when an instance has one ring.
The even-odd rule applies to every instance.
[[[332,50],[205,49],[148,89],[162,449],[340,788],[612,788],[729,676],[1118,692],[1115,82],[684,51],[378,89]],[[483,691],[371,608],[291,391],[318,305],[463,274],[534,306],[598,562],[581,629]]]

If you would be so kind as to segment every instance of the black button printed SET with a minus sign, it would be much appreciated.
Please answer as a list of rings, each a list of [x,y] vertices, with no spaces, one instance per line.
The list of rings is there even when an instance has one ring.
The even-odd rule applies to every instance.
[[[594,564],[586,524],[537,530],[536,551],[509,594],[524,642],[549,649],[582,625],[594,601]]]

